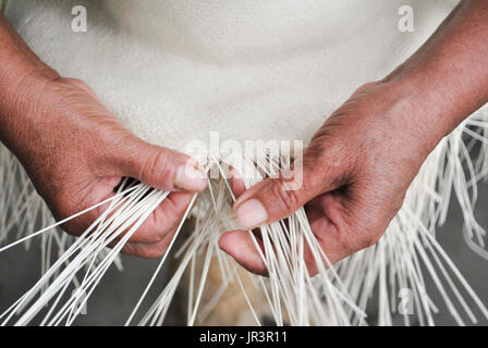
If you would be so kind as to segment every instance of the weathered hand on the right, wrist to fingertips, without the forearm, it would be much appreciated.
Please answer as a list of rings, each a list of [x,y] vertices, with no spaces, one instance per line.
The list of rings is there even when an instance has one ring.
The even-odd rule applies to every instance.
[[[242,194],[234,219],[243,228],[284,219],[305,206],[312,229],[330,261],[374,245],[401,208],[406,189],[442,135],[427,129],[411,99],[415,92],[390,83],[361,87],[313,137],[303,158],[303,185],[268,178]],[[220,247],[258,274],[266,269],[249,235],[232,231]],[[309,250],[310,273],[316,265]]]

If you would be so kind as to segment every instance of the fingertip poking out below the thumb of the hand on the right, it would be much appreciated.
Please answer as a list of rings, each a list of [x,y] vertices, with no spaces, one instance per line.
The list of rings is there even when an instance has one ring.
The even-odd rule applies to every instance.
[[[264,253],[260,240],[258,238],[256,238],[256,240]],[[248,232],[230,231],[224,233],[219,239],[219,247],[233,257],[234,260],[247,271],[258,275],[268,274],[261,256],[256,249],[256,245]]]

